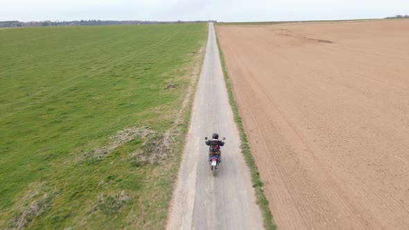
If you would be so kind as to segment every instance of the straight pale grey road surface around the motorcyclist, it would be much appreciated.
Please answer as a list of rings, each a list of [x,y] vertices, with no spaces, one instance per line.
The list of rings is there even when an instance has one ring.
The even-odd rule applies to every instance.
[[[211,174],[204,136],[225,136],[222,163]],[[173,194],[167,229],[263,229],[250,172],[240,152],[240,139],[220,66],[216,35],[209,37],[188,141]]]

